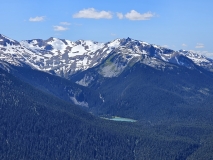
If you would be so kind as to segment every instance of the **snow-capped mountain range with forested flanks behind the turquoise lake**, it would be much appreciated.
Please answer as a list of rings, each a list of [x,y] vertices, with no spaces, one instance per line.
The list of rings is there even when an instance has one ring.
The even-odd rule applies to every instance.
[[[7,66],[6,63],[13,65],[6,67],[7,70],[26,82],[98,114],[138,118],[145,108],[160,108],[159,96],[163,98],[159,101],[165,99],[164,107],[193,105],[191,102],[200,103],[199,100],[211,95],[212,90],[212,59],[131,38],[107,43],[72,42],[52,37],[17,42],[0,35],[0,60],[4,62],[2,67]],[[54,75],[67,81],[55,80],[57,77],[53,78]],[[59,86],[56,82],[61,86],[54,90],[51,84]],[[136,90],[132,91],[135,87]],[[193,89],[195,87],[198,89]],[[112,95],[116,99],[112,99]],[[130,97],[138,98],[131,101]],[[140,107],[141,104],[144,107]],[[118,109],[124,106],[125,109]]]

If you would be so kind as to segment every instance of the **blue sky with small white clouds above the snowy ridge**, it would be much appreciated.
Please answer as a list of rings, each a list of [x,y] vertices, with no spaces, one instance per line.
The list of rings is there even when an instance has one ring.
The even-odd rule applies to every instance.
[[[212,0],[0,0],[0,34],[17,41],[127,38],[213,58]]]

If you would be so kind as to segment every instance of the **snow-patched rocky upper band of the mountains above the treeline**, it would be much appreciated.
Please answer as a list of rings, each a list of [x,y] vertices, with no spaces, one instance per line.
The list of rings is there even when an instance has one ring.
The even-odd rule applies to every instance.
[[[116,55],[112,63],[102,67],[103,76],[114,77],[127,66],[141,62],[164,69],[169,64],[193,69],[194,65],[212,71],[213,60],[190,51],[174,51],[131,38],[107,43],[49,38],[17,42],[0,35],[0,59],[14,65],[28,65],[41,71],[69,78],[73,74],[100,65]]]

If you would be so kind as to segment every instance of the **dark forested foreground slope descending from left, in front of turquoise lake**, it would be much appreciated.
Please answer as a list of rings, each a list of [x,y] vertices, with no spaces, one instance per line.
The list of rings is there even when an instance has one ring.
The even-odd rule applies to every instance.
[[[0,70],[1,159],[185,159],[199,144],[95,118]]]

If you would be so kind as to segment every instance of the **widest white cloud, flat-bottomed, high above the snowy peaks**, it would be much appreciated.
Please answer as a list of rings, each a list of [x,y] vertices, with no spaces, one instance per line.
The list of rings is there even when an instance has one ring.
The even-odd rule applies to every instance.
[[[93,19],[111,19],[112,13],[109,11],[97,11],[94,8],[83,9],[73,15],[73,18],[93,18]]]

